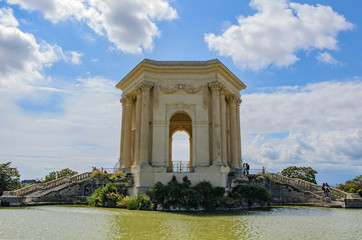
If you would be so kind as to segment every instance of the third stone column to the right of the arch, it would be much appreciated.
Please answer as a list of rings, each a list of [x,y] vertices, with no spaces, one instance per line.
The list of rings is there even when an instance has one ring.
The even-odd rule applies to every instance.
[[[231,168],[238,168],[238,136],[236,123],[236,96],[230,96],[230,138],[231,138]]]

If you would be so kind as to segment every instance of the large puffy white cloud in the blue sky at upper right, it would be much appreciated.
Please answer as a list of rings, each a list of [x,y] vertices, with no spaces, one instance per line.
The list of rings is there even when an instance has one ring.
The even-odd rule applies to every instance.
[[[353,27],[329,6],[287,0],[252,0],[250,6],[258,11],[253,16],[239,16],[220,36],[205,34],[209,49],[243,69],[290,66],[299,50],[335,50],[337,34]]]

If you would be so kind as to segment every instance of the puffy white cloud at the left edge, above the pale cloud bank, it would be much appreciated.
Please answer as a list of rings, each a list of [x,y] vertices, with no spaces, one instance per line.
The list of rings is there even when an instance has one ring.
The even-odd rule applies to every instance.
[[[59,60],[68,61],[62,48],[38,43],[34,35],[22,32],[13,10],[0,8],[0,87],[19,87],[43,80],[42,70]],[[79,62],[80,55],[71,52]]]

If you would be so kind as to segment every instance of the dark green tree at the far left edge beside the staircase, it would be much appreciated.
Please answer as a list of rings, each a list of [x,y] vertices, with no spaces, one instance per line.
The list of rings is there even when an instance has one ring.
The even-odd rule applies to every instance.
[[[4,191],[13,191],[21,187],[18,169],[10,167],[11,162],[0,164],[0,196]]]

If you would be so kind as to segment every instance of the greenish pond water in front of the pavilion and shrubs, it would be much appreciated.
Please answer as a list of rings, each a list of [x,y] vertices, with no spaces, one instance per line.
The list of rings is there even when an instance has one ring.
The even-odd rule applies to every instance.
[[[82,206],[0,208],[0,239],[362,239],[362,210],[276,207],[170,213]]]

